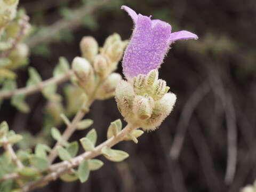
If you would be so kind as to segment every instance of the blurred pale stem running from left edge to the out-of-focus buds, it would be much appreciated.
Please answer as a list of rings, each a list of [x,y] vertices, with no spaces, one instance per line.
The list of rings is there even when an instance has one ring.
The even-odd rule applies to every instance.
[[[18,94],[25,94],[25,95],[33,94],[38,91],[42,91],[47,85],[51,83],[58,84],[58,83],[65,82],[70,78],[71,75],[73,75],[73,70],[69,70],[66,74],[62,76],[52,77],[50,79],[47,79],[46,81],[43,81],[35,86],[23,87],[13,91],[2,91],[0,92],[0,98],[11,98],[13,95],[18,95]]]

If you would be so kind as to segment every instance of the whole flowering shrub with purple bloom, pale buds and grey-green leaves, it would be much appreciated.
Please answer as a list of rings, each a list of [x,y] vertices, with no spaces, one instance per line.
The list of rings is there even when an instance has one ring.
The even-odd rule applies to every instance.
[[[15,133],[6,122],[2,122],[0,145],[4,153],[0,157],[3,167],[0,169],[1,189],[31,191],[58,178],[67,182],[78,179],[85,182],[91,171],[103,166],[103,162],[95,158],[103,155],[113,162],[124,161],[129,154],[112,147],[124,140],[138,143],[144,131],[155,130],[171,113],[176,96],[169,92],[170,87],[163,79],[158,79],[158,68],[173,42],[198,37],[188,31],[171,33],[169,23],[151,20],[151,16],[137,14],[122,6],[134,22],[130,41],[123,41],[121,36],[113,34],[99,47],[93,37],[85,36],[80,43],[82,56],[74,58],[71,68],[62,57],[53,71],[53,77],[42,81],[36,69],[30,67],[27,86],[17,89],[14,69],[28,64],[29,51],[22,39],[30,32],[28,17],[25,12],[17,13],[17,4],[17,0],[0,3],[0,99],[11,97],[12,105],[26,113],[30,110],[24,100],[26,95],[41,91],[49,101],[47,111],[52,118],[47,119],[46,126],[56,143],[51,148],[35,141],[35,148],[26,146],[28,150],[14,151],[12,146],[22,143],[22,138],[28,136]],[[114,73],[122,57],[126,79]],[[68,79],[72,84],[65,88],[67,105],[63,106],[61,95],[56,90],[58,83]],[[78,155],[78,141],[69,142],[69,138],[75,131],[92,125],[91,119],[83,117],[94,100],[113,97],[127,125],[123,127],[120,119],[111,122],[107,140],[100,145],[96,145],[97,132],[90,130],[86,137],[79,140],[85,152]],[[69,117],[74,114],[70,121]],[[62,122],[67,128],[60,133],[56,127]],[[33,138],[28,140],[33,141]],[[57,157],[61,162],[53,163]]]

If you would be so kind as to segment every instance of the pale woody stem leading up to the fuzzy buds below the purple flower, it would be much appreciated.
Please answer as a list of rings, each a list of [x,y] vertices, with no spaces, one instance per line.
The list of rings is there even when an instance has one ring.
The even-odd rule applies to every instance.
[[[64,161],[64,162],[58,163],[59,169],[57,169],[57,171],[54,171],[52,173],[45,175],[38,181],[27,183],[25,186],[22,187],[22,191],[28,192],[30,190],[37,188],[38,186],[42,185],[43,183],[49,183],[50,181],[58,179],[61,175],[67,173],[70,169],[78,166],[84,160],[92,159],[92,158],[95,158],[95,157],[101,155],[102,154],[101,149],[103,147],[105,147],[105,146],[113,147],[118,142],[123,141],[127,134],[131,133],[133,130],[135,130],[137,128],[138,128],[137,125],[127,124],[125,126],[125,128],[116,135],[116,137],[111,137],[107,141],[105,141],[105,142],[101,143],[100,145],[98,145],[97,147],[95,147],[94,150],[87,151],[87,152],[71,159],[70,161]],[[50,167],[53,167],[53,166],[54,166],[54,164],[51,165]]]

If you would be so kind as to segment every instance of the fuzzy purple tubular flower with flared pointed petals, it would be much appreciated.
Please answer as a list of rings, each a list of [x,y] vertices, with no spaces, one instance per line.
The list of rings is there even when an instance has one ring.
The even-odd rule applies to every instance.
[[[134,22],[134,30],[123,57],[123,72],[127,79],[139,74],[148,74],[158,69],[170,44],[180,39],[197,39],[189,31],[171,33],[169,23],[137,14],[130,7],[122,6]]]

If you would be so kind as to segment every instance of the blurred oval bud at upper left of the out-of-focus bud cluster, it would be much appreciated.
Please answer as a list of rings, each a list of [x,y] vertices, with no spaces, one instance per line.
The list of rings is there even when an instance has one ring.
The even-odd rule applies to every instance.
[[[85,36],[80,42],[80,49],[82,52],[82,57],[86,58],[90,62],[93,62],[95,56],[98,54],[99,45],[95,38],[91,36]]]

